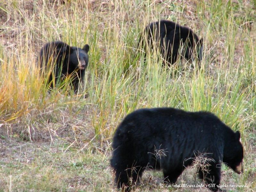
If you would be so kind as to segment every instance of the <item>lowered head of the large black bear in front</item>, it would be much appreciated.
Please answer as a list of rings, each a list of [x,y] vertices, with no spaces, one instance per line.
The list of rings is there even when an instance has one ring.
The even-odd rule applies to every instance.
[[[238,174],[243,172],[244,148],[241,144],[241,135],[237,131],[233,137],[225,139],[223,163]]]

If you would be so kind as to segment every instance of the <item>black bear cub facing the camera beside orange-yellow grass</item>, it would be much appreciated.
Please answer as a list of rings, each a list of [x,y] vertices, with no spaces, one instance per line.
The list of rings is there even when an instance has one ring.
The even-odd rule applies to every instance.
[[[72,87],[75,92],[78,91],[88,65],[88,51],[87,44],[83,49],[61,41],[45,44],[40,50],[38,62],[43,72],[51,72],[48,79],[50,87],[53,88],[57,82],[72,75]]]

